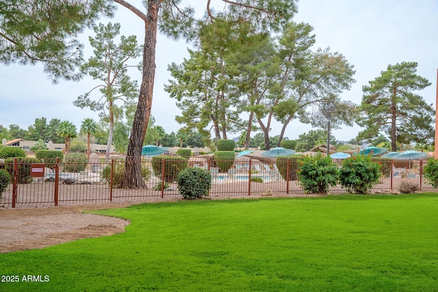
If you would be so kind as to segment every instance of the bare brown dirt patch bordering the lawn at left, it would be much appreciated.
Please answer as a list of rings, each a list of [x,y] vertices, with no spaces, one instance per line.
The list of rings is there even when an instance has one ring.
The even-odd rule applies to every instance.
[[[129,220],[81,212],[123,208],[131,204],[0,209],[0,253],[38,249],[77,239],[124,232]]]

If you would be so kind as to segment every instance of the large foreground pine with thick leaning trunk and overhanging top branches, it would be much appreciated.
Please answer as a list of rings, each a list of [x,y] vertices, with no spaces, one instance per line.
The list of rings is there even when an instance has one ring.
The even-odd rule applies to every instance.
[[[140,157],[144,135],[151,114],[153,99],[153,84],[155,80],[155,48],[157,42],[157,27],[161,32],[172,37],[192,39],[196,36],[196,28],[208,21],[214,21],[218,16],[223,19],[234,19],[236,23],[258,19],[259,29],[276,29],[283,25],[296,12],[294,0],[222,0],[226,4],[220,15],[214,15],[210,7],[211,1],[206,1],[207,13],[201,19],[195,19],[192,8],[181,8],[180,1],[147,0],[144,1],[146,13],[125,0],[114,0],[131,10],[144,21],[144,51],[142,84],[138,106],[134,117],[131,136],[127,151],[125,167],[125,186],[127,188],[145,188],[140,168]]]

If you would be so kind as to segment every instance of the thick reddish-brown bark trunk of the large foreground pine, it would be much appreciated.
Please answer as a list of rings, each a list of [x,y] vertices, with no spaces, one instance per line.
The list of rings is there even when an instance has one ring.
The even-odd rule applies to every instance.
[[[118,1],[119,3],[120,1]],[[157,21],[160,0],[149,0],[144,19],[143,75],[136,115],[127,150],[125,188],[146,188],[142,178],[140,158],[144,135],[151,115],[153,84],[155,80],[155,45],[157,42]],[[126,6],[125,6],[126,7]]]

